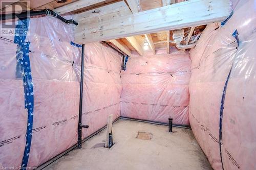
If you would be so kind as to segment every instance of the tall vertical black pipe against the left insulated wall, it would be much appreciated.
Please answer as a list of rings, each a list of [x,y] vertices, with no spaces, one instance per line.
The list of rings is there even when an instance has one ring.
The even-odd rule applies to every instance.
[[[79,100],[79,117],[78,117],[78,148],[82,148],[82,89],[83,89],[83,53],[84,44],[82,44],[81,57],[81,79],[80,79],[80,100]]]

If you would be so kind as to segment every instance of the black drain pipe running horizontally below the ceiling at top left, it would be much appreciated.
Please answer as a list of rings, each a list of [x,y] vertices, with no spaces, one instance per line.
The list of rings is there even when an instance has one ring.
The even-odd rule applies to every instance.
[[[44,9],[44,10],[40,10],[40,11],[26,11],[26,12],[22,12],[22,13],[1,14],[0,20],[15,19],[15,18],[26,19],[31,16],[37,16],[37,15],[53,15],[56,18],[60,19],[62,22],[73,23],[76,26],[78,25],[78,23],[75,20],[65,19],[50,9]]]

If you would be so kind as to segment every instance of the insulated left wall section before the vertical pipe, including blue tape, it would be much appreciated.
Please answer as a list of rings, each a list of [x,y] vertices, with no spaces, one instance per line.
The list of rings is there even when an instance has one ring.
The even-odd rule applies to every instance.
[[[27,166],[37,166],[77,141],[77,119],[72,117],[78,112],[79,83],[72,61],[79,54],[70,44],[70,29],[48,17],[25,21],[16,24],[28,26],[27,35],[5,36],[0,42],[2,167],[26,166],[25,157]],[[19,42],[30,42],[27,50]],[[24,61],[24,55],[30,62]],[[27,84],[30,90],[25,92]],[[29,103],[28,97],[33,97]],[[31,142],[26,136],[32,137]]]

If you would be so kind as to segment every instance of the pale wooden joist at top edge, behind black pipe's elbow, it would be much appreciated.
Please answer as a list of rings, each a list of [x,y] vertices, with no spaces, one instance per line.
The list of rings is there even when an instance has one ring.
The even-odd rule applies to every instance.
[[[54,9],[58,14],[65,14],[71,11],[78,10],[80,8],[88,7],[97,3],[104,2],[105,0],[79,0],[74,3],[67,4],[65,6]]]

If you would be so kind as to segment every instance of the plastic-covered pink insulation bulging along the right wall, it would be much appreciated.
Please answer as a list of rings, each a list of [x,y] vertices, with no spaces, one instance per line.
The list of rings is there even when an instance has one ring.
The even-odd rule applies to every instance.
[[[256,4],[234,1],[233,7],[225,25],[208,25],[190,52],[189,122],[214,169],[256,169]]]

